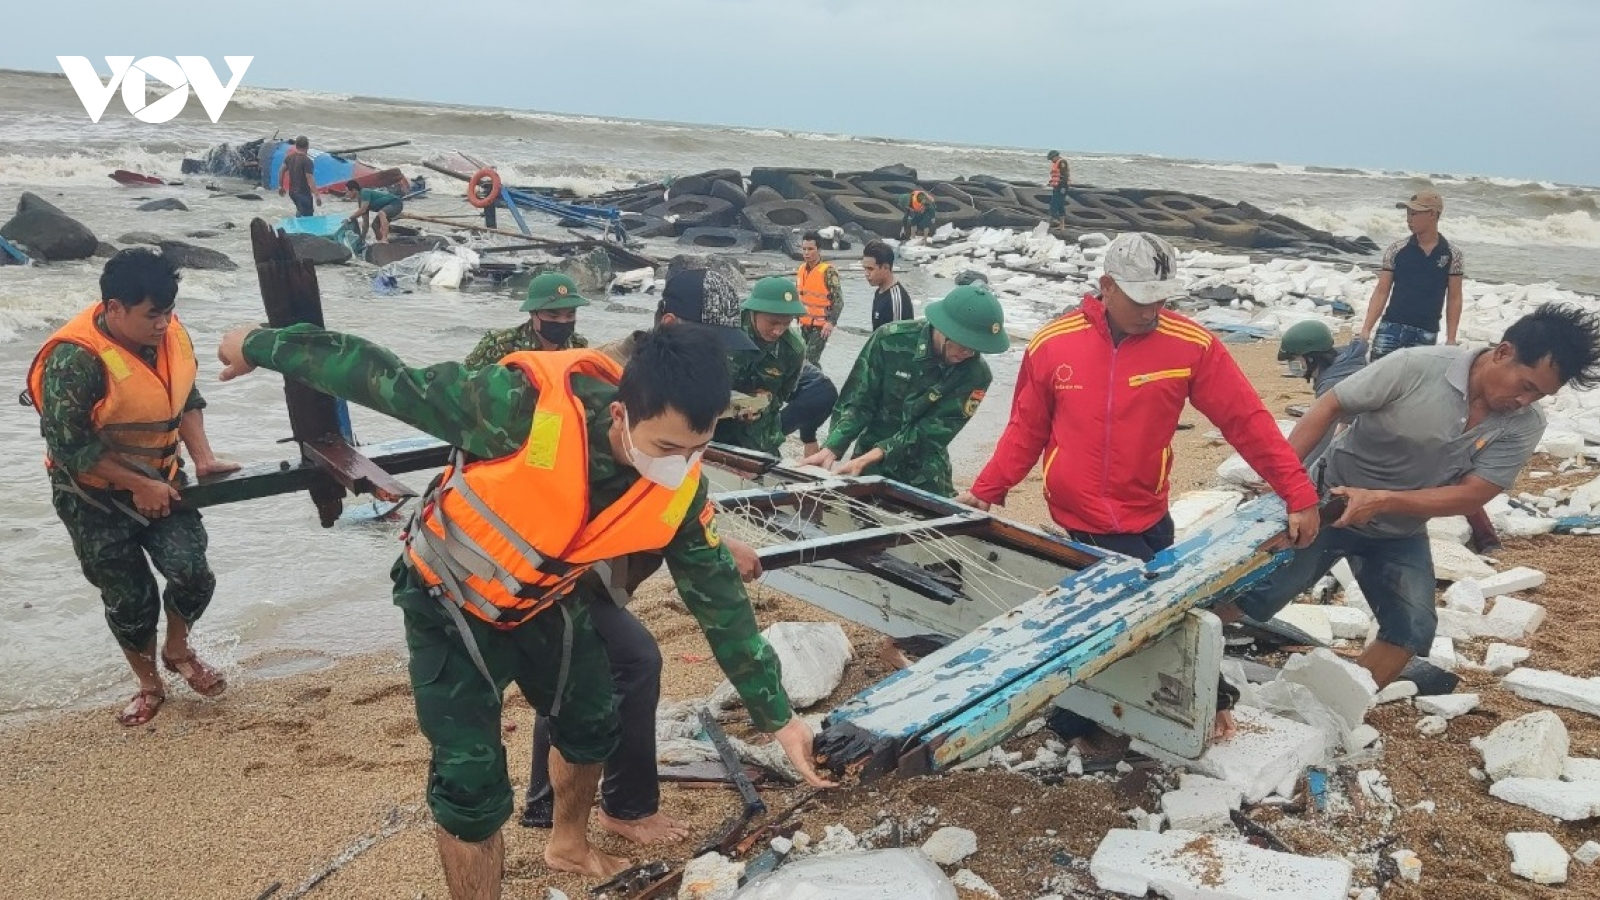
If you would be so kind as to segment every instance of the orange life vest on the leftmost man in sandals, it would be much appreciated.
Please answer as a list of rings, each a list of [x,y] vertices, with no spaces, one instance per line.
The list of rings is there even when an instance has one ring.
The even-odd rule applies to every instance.
[[[150,477],[178,477],[178,423],[195,386],[195,349],[189,331],[173,315],[155,365],[118,344],[94,323],[96,303],[62,325],[34,356],[27,370],[27,392],[35,410],[43,412],[45,360],[59,344],[77,344],[93,354],[106,372],[106,397],[94,404],[90,423],[117,461]],[[45,466],[50,468],[46,456]],[[78,474],[83,487],[109,488],[106,479]]]

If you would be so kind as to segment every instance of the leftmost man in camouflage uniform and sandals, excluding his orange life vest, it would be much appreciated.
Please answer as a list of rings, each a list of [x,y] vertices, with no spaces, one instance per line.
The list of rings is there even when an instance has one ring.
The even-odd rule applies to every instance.
[[[94,327],[155,370],[166,330],[178,327],[173,317],[178,269],[152,250],[123,250],[101,272],[101,298]],[[179,335],[192,356],[194,348],[181,327]],[[106,625],[139,681],[139,692],[117,719],[123,725],[142,725],[166,700],[155,669],[155,633],[163,605],[166,641],[162,660],[166,668],[206,697],[227,687],[222,676],[189,647],[189,629],[216,591],[216,575],[205,557],[205,525],[197,509],[181,504],[181,468],[174,469],[173,479],[166,479],[136,460],[114,453],[109,439],[96,429],[94,410],[109,392],[107,360],[69,340],[51,338],[46,346],[48,352],[37,362],[43,365],[42,391],[30,405],[40,413],[51,500],[72,538],[83,577],[99,588]],[[178,434],[195,463],[195,474],[203,477],[238,469],[237,463],[211,453],[203,408],[200,391],[190,388]],[[90,476],[112,487],[80,484],[78,479]],[[157,589],[150,564],[166,578],[165,596]]]

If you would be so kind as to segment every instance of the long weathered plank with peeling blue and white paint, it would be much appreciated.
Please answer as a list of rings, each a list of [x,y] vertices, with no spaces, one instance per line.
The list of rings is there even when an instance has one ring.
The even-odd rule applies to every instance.
[[[1112,556],[1074,573],[846,701],[829,716],[834,746],[856,756],[891,746],[910,754],[914,770],[966,759],[1067,685],[1165,634],[1194,605],[1264,575],[1280,559],[1256,548],[1282,528],[1283,504],[1262,498],[1149,564]]]

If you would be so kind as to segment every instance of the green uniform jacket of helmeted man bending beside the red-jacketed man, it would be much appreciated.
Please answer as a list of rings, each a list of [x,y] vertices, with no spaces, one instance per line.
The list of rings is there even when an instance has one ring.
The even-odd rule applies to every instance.
[[[950,496],[950,440],[978,412],[990,380],[981,356],[944,365],[926,322],[885,325],[861,348],[838,392],[824,447],[838,456],[851,442],[858,455],[875,447],[883,450],[883,461],[862,474]]]

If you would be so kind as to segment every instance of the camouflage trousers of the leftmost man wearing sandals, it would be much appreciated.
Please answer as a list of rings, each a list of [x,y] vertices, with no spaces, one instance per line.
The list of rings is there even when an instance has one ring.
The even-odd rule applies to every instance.
[[[99,509],[64,490],[53,493],[83,577],[99,588],[106,625],[123,650],[154,650],[163,605],[166,615],[192,626],[211,604],[216,575],[205,559],[206,533],[197,509],[139,524],[120,509]],[[165,594],[152,565],[166,578]]]

